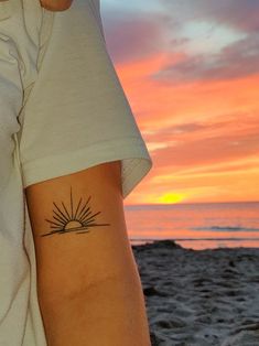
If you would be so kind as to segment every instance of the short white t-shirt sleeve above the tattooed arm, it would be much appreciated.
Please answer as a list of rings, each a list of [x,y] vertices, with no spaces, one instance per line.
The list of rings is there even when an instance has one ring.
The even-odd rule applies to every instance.
[[[125,198],[152,161],[93,3],[77,0],[69,10],[50,17],[47,47],[21,115],[23,183],[28,187],[120,160]]]

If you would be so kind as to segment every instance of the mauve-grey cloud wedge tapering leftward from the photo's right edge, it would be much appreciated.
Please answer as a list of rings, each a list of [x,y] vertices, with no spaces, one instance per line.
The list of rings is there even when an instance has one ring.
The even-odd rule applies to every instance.
[[[172,84],[241,78],[259,74],[258,56],[259,34],[256,33],[229,44],[219,54],[187,55],[150,77]]]

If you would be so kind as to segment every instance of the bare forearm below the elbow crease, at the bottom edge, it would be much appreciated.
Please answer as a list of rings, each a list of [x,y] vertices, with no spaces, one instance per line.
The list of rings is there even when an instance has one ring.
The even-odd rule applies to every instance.
[[[39,296],[48,346],[150,346],[139,274],[125,272],[56,299]]]

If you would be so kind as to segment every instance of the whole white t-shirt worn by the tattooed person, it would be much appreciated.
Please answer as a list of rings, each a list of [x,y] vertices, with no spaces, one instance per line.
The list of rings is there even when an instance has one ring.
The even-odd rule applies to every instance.
[[[123,198],[152,161],[107,53],[99,0],[0,2],[0,345],[45,346],[24,187],[121,160]]]

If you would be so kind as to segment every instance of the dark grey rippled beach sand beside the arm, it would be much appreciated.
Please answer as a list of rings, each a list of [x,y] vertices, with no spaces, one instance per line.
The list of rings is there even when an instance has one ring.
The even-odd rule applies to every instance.
[[[132,249],[153,346],[259,345],[259,249]]]

